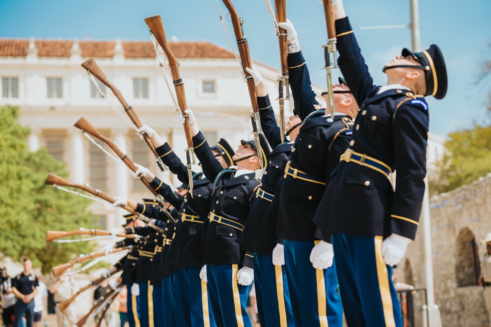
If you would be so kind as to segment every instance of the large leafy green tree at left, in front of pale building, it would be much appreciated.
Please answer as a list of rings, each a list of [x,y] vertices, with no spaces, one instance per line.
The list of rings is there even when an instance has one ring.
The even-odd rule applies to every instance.
[[[93,215],[89,200],[45,185],[49,173],[69,173],[45,148],[27,149],[30,130],[18,118],[17,107],[0,107],[0,258],[29,256],[46,273],[93,248],[88,242],[46,244],[46,231],[91,227]]]

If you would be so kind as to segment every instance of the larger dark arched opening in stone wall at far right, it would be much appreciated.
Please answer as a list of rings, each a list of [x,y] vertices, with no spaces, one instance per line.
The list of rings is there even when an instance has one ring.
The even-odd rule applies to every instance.
[[[465,227],[459,232],[456,244],[455,276],[457,286],[477,285],[479,278],[479,255],[472,231]]]

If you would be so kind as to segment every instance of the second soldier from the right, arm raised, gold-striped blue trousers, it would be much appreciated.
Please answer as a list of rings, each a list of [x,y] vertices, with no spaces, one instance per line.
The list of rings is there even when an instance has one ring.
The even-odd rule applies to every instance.
[[[290,21],[280,24],[287,30],[290,86],[303,126],[265,220],[276,226],[276,236],[284,240],[275,252],[284,251],[295,325],[342,326],[330,235],[317,231],[312,219],[329,175],[349,146],[358,105],[340,80],[329,90],[334,97],[334,117],[321,109],[295,28]]]

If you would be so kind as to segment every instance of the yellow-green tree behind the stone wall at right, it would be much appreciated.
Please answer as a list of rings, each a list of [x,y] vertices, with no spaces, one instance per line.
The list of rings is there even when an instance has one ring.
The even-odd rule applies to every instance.
[[[445,154],[436,164],[439,174],[429,176],[430,192],[443,193],[491,173],[491,126],[449,134]]]

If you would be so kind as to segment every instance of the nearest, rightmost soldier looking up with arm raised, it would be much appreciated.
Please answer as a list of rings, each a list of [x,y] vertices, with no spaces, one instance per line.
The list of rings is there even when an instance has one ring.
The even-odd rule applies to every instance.
[[[419,224],[429,123],[424,97],[445,96],[445,63],[435,45],[404,49],[383,69],[387,85],[374,85],[343,2],[334,2],[338,64],[361,106],[314,223],[332,235],[348,325],[402,326],[392,266]],[[395,190],[387,178],[394,170]]]

